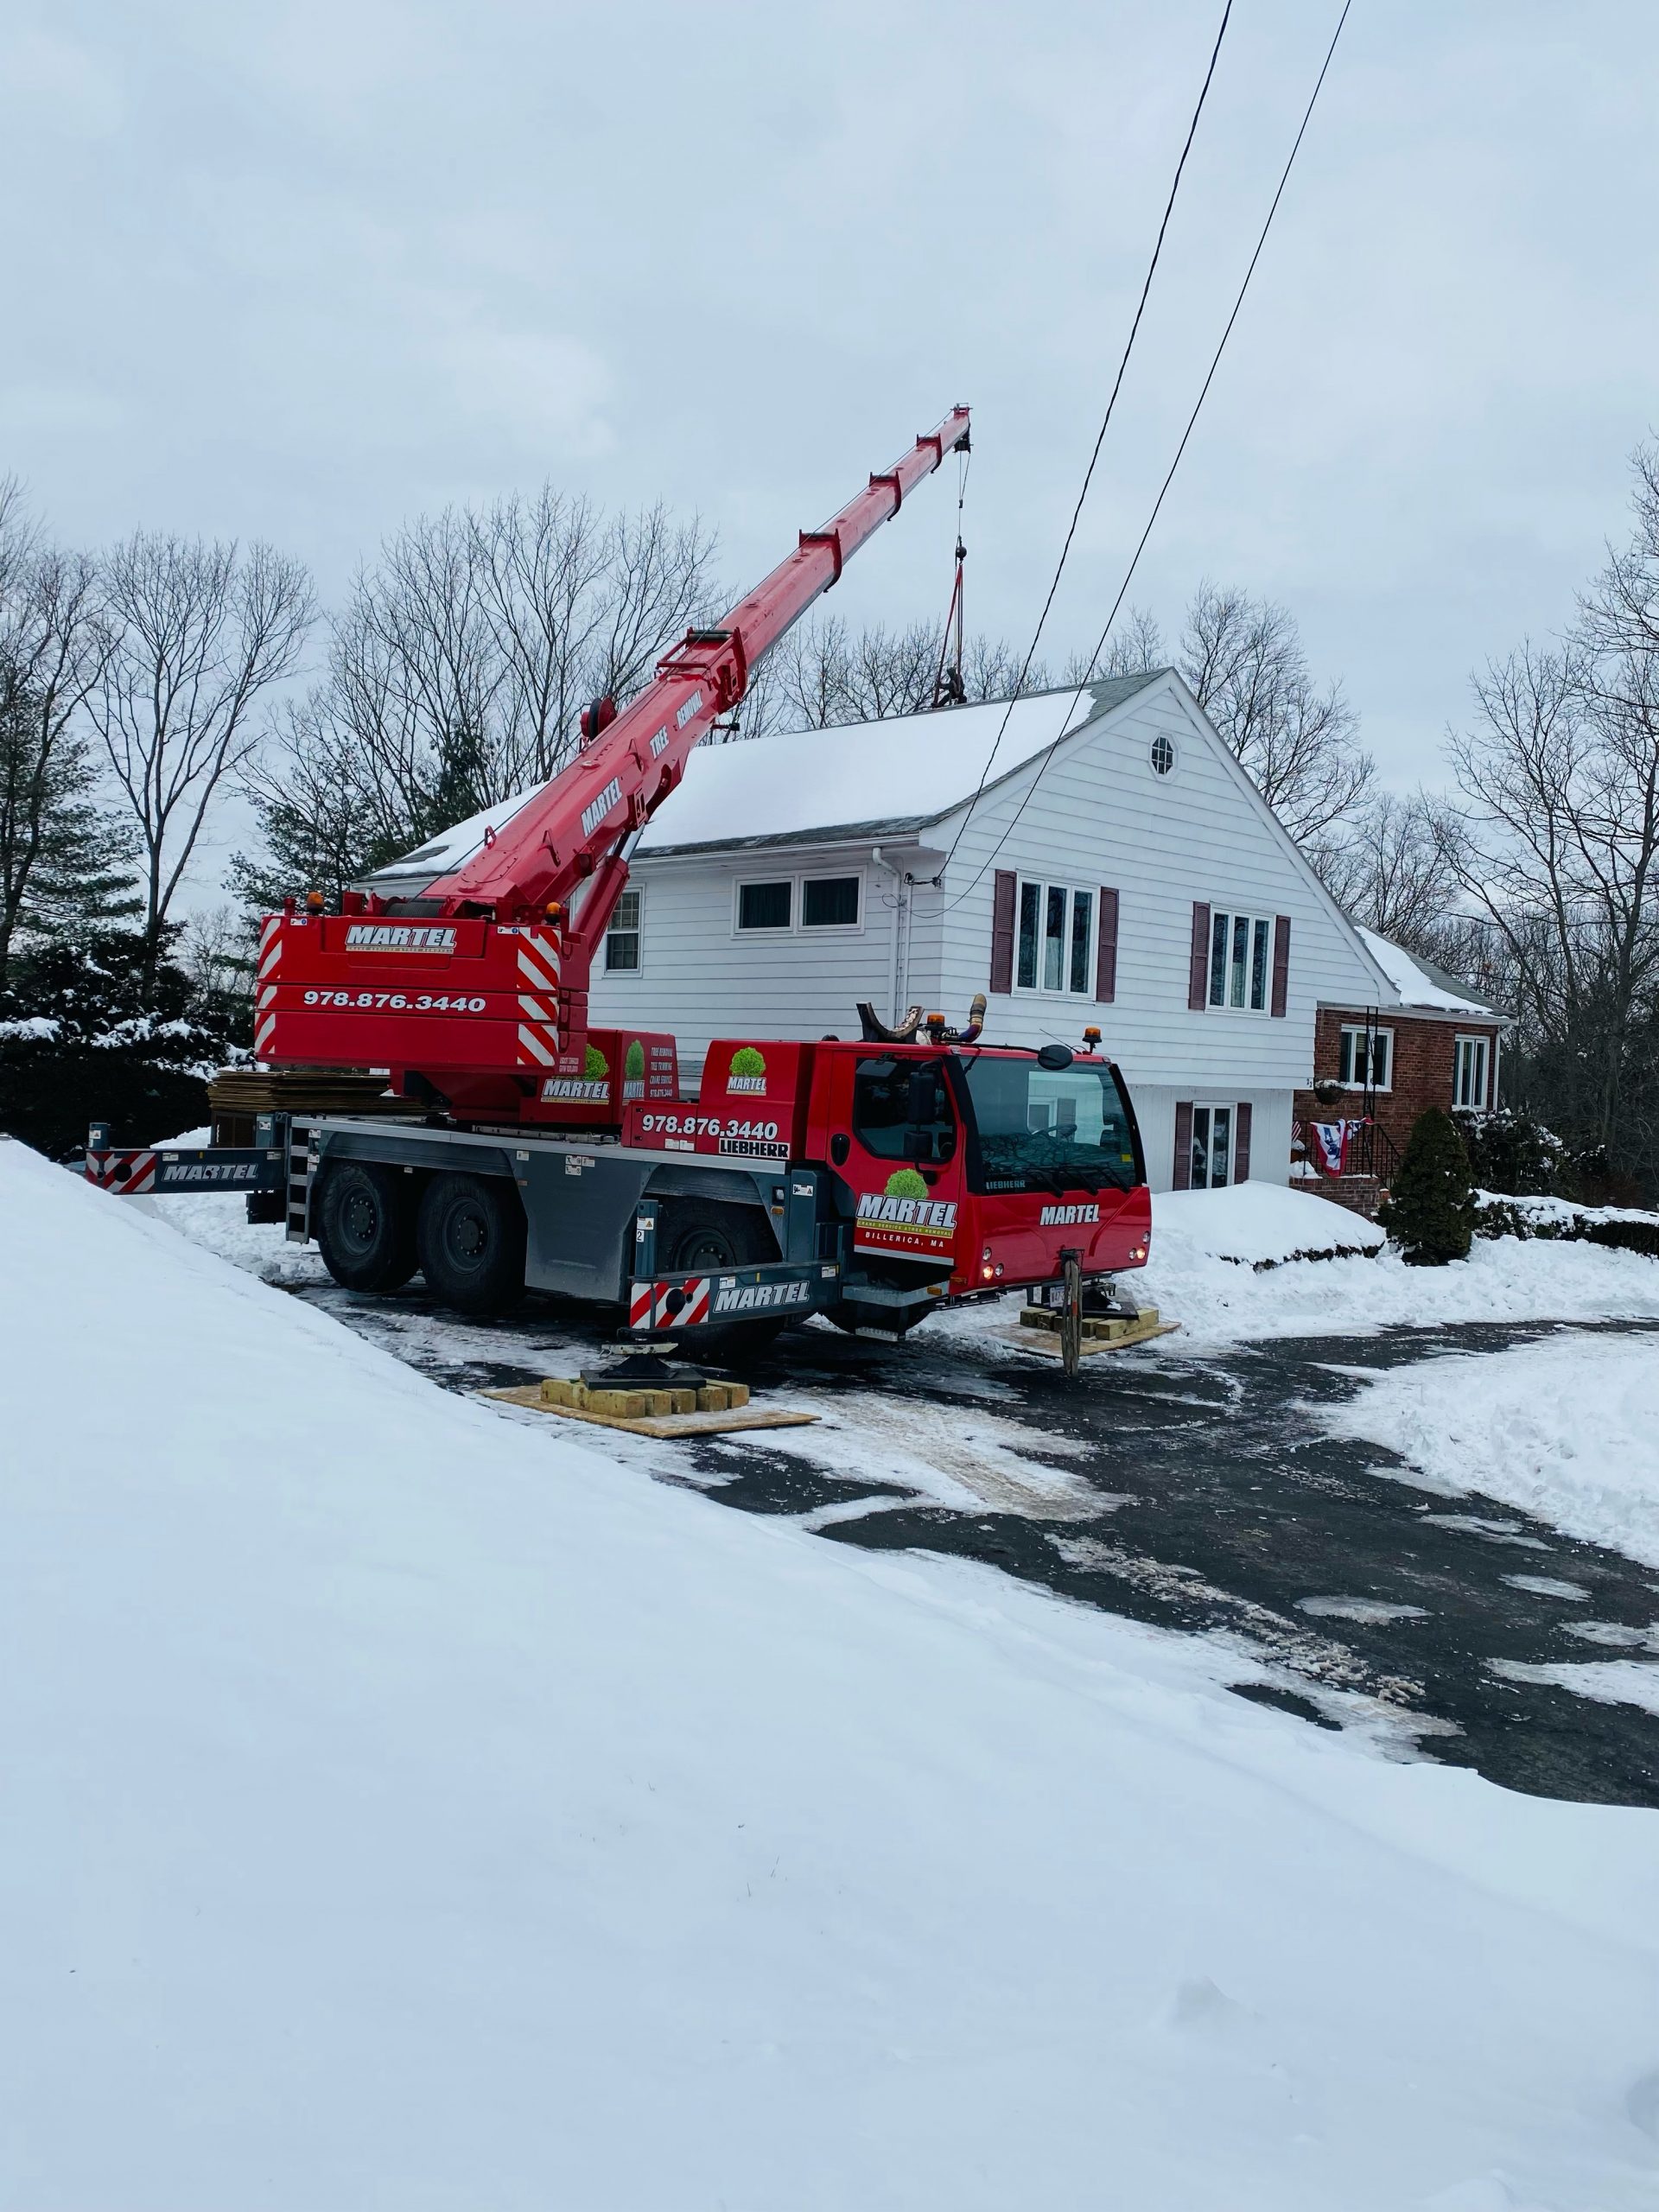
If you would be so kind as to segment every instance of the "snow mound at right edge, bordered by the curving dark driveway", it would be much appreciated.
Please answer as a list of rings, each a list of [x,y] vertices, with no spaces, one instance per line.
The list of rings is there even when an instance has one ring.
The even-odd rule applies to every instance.
[[[1394,1367],[1325,1420],[1389,1444],[1433,1489],[1502,1498],[1659,1566],[1659,1338],[1562,1334]]]

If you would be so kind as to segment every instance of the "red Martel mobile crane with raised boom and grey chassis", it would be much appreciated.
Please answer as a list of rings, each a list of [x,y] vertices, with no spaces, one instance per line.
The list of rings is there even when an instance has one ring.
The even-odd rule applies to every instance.
[[[1033,1053],[980,1042],[982,1002],[960,1033],[858,1009],[858,1042],[717,1040],[681,1099],[670,1035],[588,1029],[633,836],[761,655],[967,438],[956,407],[719,628],[690,630],[639,699],[595,701],[577,757],[469,849],[442,841],[420,896],[347,891],[325,914],[312,894],[265,920],[257,1057],[389,1068],[420,1126],[268,1115],[246,1150],[144,1152],[95,1124],[86,1175],[243,1188],[352,1290],[420,1270],[447,1303],[491,1312],[529,1285],[728,1352],[810,1312],[900,1338],[945,1301],[1015,1287],[1079,1316],[1106,1276],[1144,1265],[1141,1141],[1095,1031],[1082,1053]]]

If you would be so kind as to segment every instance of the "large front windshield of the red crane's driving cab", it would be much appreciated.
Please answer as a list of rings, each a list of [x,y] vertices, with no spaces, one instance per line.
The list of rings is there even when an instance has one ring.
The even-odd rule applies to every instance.
[[[1104,1060],[1040,1068],[964,1055],[958,1068],[973,1108],[969,1161],[980,1190],[1133,1190],[1141,1181],[1135,1121]]]

